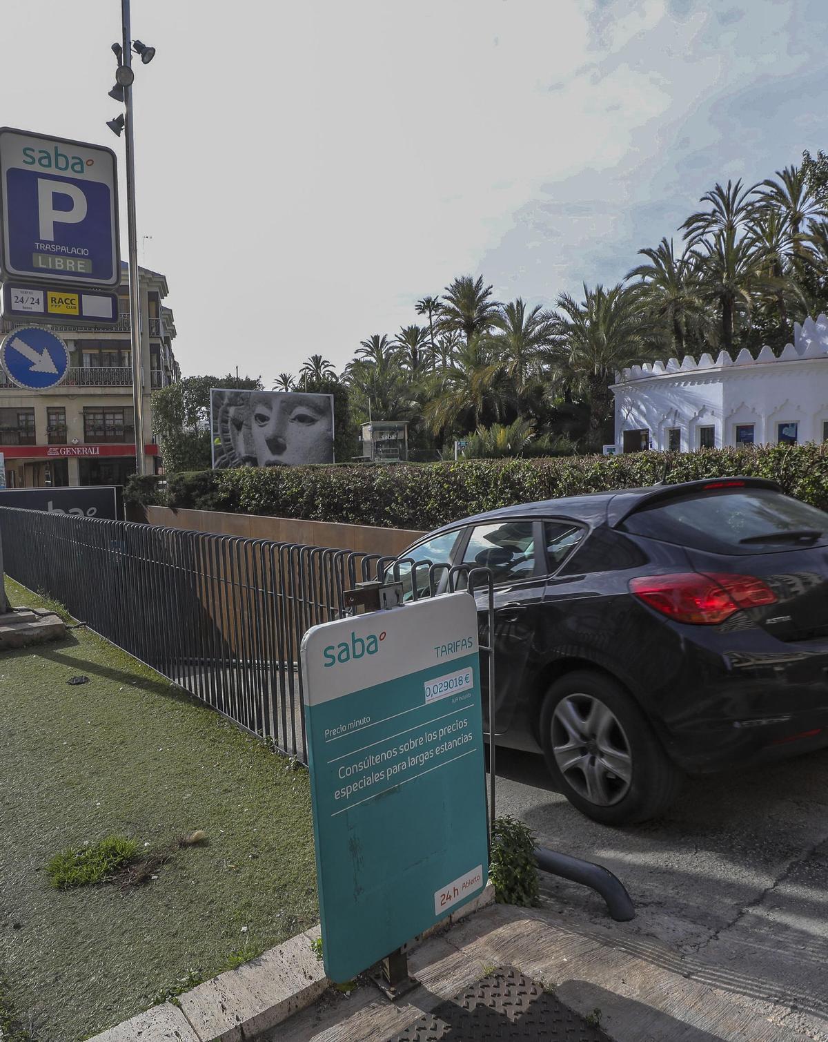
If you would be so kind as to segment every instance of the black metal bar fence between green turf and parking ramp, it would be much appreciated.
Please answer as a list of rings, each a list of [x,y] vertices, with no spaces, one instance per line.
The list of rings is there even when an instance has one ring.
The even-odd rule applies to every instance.
[[[350,614],[346,590],[399,579],[401,566],[412,600],[469,579],[429,562],[388,571],[393,559],[349,550],[10,507],[0,540],[11,578],[303,762],[305,631]]]

